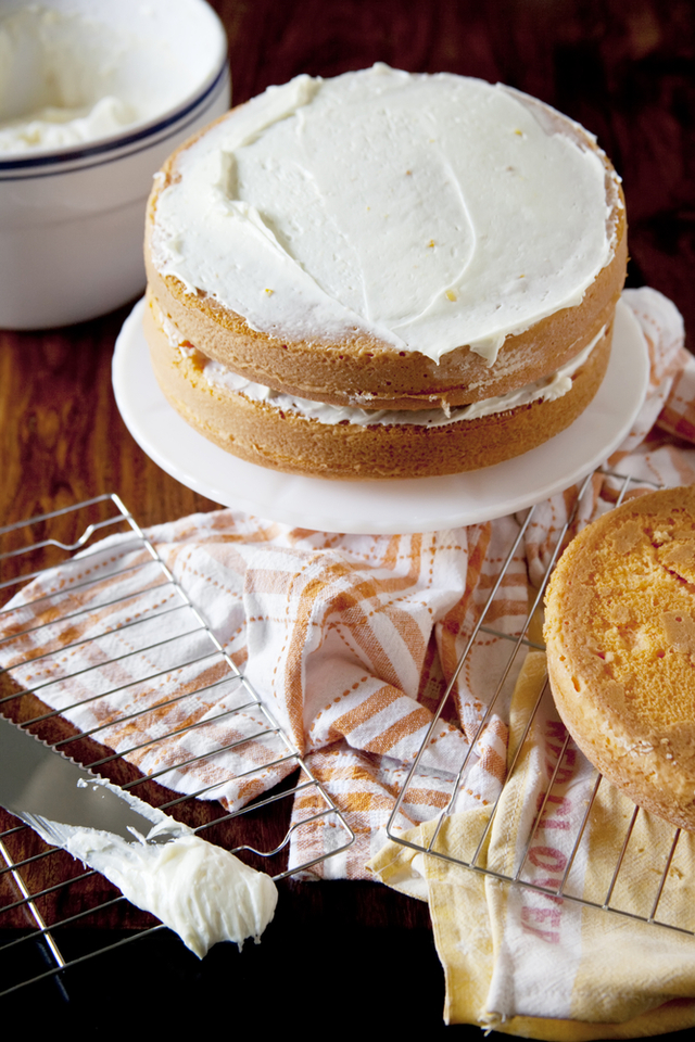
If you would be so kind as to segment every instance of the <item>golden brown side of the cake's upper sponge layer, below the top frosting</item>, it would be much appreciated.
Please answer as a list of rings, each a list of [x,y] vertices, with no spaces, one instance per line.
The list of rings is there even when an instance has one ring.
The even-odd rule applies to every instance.
[[[539,103],[540,104],[540,103]],[[551,110],[542,106],[544,112]],[[225,118],[225,117],[223,117]],[[552,113],[563,131],[595,151],[580,127]],[[197,139],[194,139],[197,140]],[[341,343],[290,341],[251,329],[245,320],[199,291],[188,292],[174,276],[162,276],[152,260],[152,228],[157,199],[173,180],[187,142],[157,177],[148,204],[146,266],[148,283],[163,315],[208,357],[249,380],[277,391],[333,405],[361,404],[374,409],[424,409],[466,405],[506,394],[546,377],[569,361],[612,321],[627,266],[624,200],[609,161],[606,166],[608,228],[615,249],[609,263],[586,290],[582,302],[506,338],[494,366],[467,345],[442,356],[439,364],[413,351],[397,351],[356,331]],[[357,397],[363,399],[357,402]]]

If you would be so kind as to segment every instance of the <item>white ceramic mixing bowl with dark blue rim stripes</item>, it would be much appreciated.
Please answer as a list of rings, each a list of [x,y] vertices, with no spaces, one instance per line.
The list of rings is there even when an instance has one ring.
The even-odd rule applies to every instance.
[[[55,47],[64,49],[65,68],[77,65],[75,45],[65,38],[75,20],[83,20],[88,29],[77,53],[90,66],[81,71],[83,80],[103,79],[142,112],[135,123],[93,140],[0,153],[0,327],[5,329],[83,321],[142,290],[152,176],[230,101],[225,30],[204,0],[39,0],[28,8],[58,24],[62,39]],[[21,9],[27,9],[26,0],[3,0],[3,20]],[[9,75],[7,63],[0,69],[0,120],[33,111],[38,99],[27,76],[33,41],[27,43],[26,31],[23,38],[13,31],[16,60]],[[85,84],[73,74],[63,93],[80,90]]]

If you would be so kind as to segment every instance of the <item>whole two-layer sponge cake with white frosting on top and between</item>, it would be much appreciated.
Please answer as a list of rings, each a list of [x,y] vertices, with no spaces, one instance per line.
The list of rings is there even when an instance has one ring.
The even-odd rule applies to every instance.
[[[454,473],[586,407],[626,252],[612,167],[540,102],[383,65],[300,76],[155,179],[147,334],[169,402],[243,458]]]

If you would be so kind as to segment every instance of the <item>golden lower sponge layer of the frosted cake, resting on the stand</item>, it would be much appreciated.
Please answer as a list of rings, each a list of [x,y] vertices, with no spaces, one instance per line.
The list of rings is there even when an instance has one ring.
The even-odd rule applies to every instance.
[[[156,308],[156,305],[154,305]],[[554,402],[444,427],[328,424],[211,386],[205,359],[185,355],[146,308],[155,376],[169,403],[199,433],[232,455],[289,473],[332,479],[419,478],[489,467],[526,453],[568,427],[604,378],[612,328]]]

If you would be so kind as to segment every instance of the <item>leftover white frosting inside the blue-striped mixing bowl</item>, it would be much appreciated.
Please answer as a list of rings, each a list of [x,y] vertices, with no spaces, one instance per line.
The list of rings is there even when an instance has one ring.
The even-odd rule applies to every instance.
[[[29,4],[0,18],[0,156],[79,145],[147,122],[179,96],[156,41]]]

